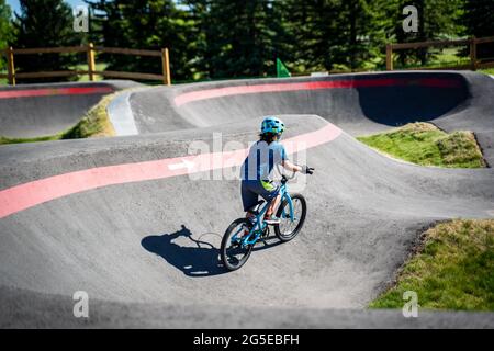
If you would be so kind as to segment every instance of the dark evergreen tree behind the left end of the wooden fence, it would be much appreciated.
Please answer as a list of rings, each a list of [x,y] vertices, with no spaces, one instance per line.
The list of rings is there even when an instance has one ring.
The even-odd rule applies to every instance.
[[[14,42],[16,48],[72,46],[80,43],[80,36],[72,29],[71,9],[63,0],[21,0],[20,5],[21,13],[15,13],[14,21],[18,33]],[[15,56],[15,68],[20,72],[67,70],[76,63],[74,55]],[[54,80],[59,78],[37,81]]]

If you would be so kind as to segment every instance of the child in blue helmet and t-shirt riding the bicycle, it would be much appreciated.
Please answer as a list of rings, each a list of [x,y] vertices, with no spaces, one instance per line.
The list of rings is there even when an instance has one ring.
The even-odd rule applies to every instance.
[[[270,225],[280,224],[280,218],[273,215],[281,201],[280,184],[272,180],[274,166],[281,165],[292,172],[312,174],[314,169],[307,166],[292,163],[287,151],[279,143],[284,132],[284,124],[274,116],[266,117],[261,124],[259,140],[249,150],[240,169],[242,202],[246,217],[251,217],[251,210],[258,204],[259,195],[270,205],[266,212],[265,222]]]

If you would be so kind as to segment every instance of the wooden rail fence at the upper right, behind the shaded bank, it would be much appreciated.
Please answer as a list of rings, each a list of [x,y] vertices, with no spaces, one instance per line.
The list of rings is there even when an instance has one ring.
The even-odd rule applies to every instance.
[[[403,43],[403,44],[388,44],[386,45],[386,70],[393,70],[393,52],[404,50],[404,49],[416,49],[416,48],[428,48],[428,47],[447,47],[447,46],[470,46],[470,63],[467,65],[453,65],[446,67],[417,67],[407,69],[471,69],[476,70],[479,68],[490,68],[494,67],[494,60],[482,63],[476,57],[476,46],[484,43],[493,43],[494,36],[482,37],[482,38],[469,38],[459,41],[444,41],[444,42],[420,42],[420,43]]]

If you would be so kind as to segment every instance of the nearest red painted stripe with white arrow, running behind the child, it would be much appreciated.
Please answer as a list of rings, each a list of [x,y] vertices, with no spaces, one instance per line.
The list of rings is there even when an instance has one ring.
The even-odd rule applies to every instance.
[[[287,152],[294,154],[332,141],[340,134],[341,129],[333,124],[328,124],[318,131],[289,138],[283,144],[287,146]],[[48,177],[0,191],[0,218],[50,200],[101,186],[164,179],[239,166],[247,152],[247,149],[242,149],[228,152],[201,154],[155,161],[98,167]],[[173,167],[170,169],[170,165],[180,165],[183,160],[194,162],[194,165],[200,165],[201,167],[191,170]]]

